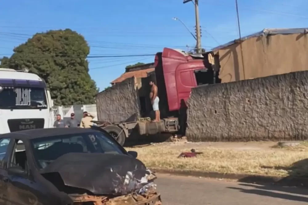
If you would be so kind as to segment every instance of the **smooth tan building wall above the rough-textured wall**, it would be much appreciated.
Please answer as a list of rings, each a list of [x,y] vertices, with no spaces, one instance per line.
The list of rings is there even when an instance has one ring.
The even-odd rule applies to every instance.
[[[218,50],[221,82],[261,78],[307,70],[308,34],[275,34],[249,38]]]

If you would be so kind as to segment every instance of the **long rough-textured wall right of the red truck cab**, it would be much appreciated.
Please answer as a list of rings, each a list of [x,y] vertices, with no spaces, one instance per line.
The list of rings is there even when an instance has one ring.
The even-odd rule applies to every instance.
[[[302,140],[308,136],[308,71],[193,88],[192,141]]]

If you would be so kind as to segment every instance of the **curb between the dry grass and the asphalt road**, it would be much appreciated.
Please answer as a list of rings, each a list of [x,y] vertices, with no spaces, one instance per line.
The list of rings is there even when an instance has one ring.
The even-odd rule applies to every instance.
[[[151,169],[151,168],[150,168]],[[236,179],[242,183],[257,183],[265,184],[272,183],[288,187],[305,187],[308,188],[308,178],[297,176],[265,176],[265,175],[249,175],[249,174],[229,174],[219,172],[191,171],[191,170],[168,170],[168,169],[151,169],[155,173],[181,175],[181,176],[196,176],[205,178],[218,179]]]

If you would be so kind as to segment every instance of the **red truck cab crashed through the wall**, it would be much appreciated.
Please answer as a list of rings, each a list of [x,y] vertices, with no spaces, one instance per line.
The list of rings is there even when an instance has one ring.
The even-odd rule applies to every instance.
[[[179,111],[183,100],[187,106],[193,87],[211,84],[213,72],[205,65],[205,58],[195,58],[181,50],[164,48],[156,54],[154,66],[160,105],[168,104],[167,112]]]

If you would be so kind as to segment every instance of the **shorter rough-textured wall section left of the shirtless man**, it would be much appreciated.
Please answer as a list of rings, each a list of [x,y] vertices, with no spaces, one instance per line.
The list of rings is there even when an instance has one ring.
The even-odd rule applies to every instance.
[[[111,123],[135,121],[140,115],[140,103],[135,84],[135,78],[128,78],[97,94],[98,120]]]

